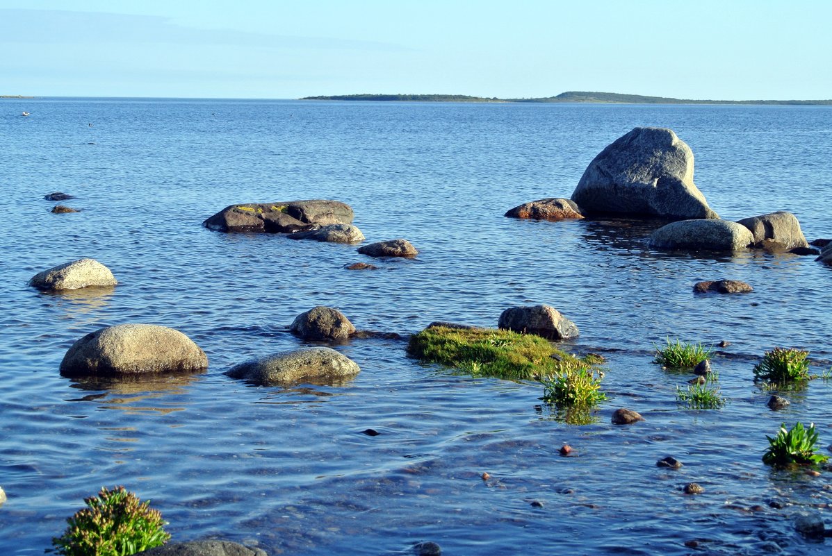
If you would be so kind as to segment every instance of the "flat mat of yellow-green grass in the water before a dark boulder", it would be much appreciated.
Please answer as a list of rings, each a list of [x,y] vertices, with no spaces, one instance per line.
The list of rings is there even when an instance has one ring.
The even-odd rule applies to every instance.
[[[540,380],[566,368],[587,367],[542,337],[491,328],[425,328],[410,337],[408,354],[472,376]]]

